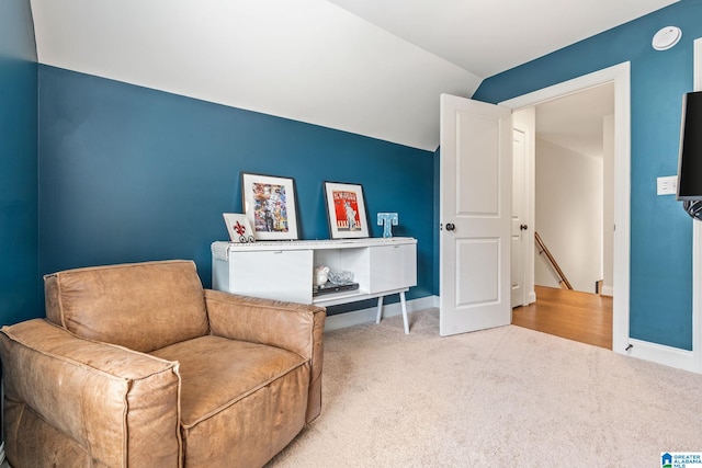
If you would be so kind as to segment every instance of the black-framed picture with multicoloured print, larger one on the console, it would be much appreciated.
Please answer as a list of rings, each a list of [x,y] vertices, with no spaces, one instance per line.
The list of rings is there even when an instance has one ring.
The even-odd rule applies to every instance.
[[[296,240],[295,181],[241,173],[244,213],[257,240]]]

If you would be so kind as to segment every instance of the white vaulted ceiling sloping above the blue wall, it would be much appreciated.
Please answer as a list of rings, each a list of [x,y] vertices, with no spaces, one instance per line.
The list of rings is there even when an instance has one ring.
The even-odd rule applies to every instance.
[[[434,150],[439,94],[676,0],[31,0],[42,64]],[[661,25],[663,26],[663,25]]]

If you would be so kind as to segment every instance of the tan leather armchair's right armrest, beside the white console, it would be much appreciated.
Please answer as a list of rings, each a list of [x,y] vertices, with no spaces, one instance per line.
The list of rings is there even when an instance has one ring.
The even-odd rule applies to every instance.
[[[210,329],[218,336],[268,344],[309,359],[307,422],[321,411],[324,307],[205,289]]]

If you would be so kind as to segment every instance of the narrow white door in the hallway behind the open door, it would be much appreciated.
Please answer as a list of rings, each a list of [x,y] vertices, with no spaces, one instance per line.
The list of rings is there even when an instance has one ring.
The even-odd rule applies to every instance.
[[[530,241],[526,224],[526,135],[514,126],[512,139],[512,242],[511,242],[511,307],[525,306],[526,301],[526,242]]]

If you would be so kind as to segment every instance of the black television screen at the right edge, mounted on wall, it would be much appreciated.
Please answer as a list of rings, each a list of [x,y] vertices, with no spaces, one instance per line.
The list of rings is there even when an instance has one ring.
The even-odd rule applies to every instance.
[[[678,199],[702,199],[702,92],[682,98]]]

